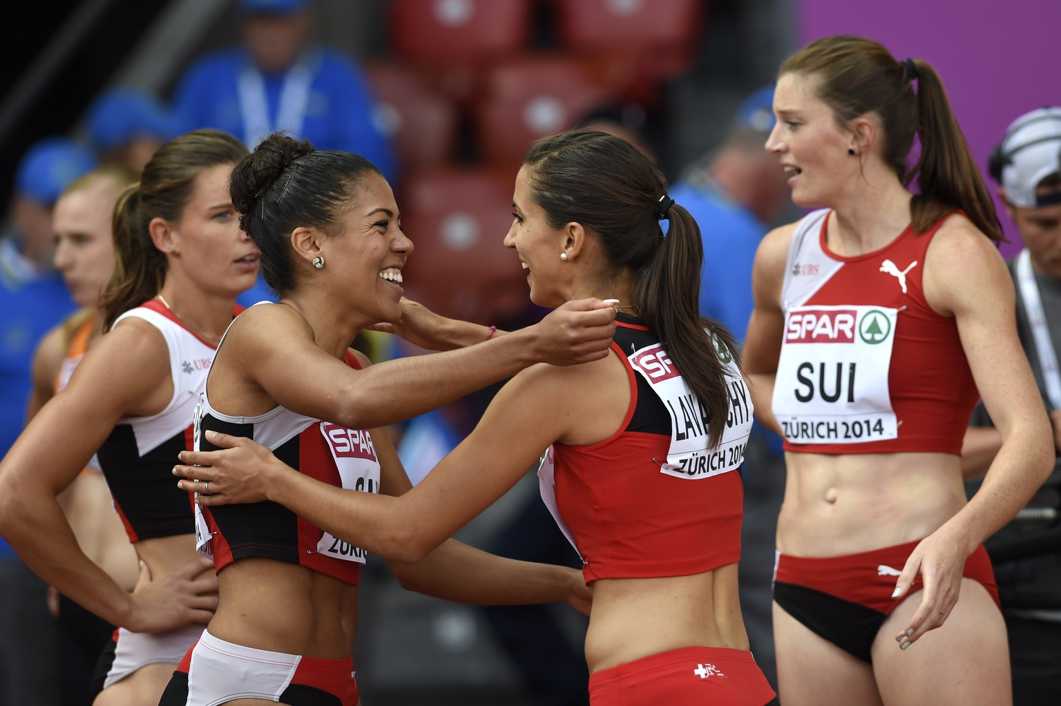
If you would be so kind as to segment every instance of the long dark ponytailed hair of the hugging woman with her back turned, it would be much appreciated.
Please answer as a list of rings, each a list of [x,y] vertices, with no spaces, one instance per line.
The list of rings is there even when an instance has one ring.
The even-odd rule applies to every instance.
[[[666,179],[643,152],[605,133],[544,137],[530,145],[523,166],[530,199],[551,227],[580,223],[596,236],[612,268],[637,274],[632,304],[710,419],[719,420],[709,431],[712,446],[717,444],[730,399],[712,334],[730,351],[736,345],[721,324],[700,316],[703,244],[696,221],[681,204],[672,205],[664,238],[656,209]]]

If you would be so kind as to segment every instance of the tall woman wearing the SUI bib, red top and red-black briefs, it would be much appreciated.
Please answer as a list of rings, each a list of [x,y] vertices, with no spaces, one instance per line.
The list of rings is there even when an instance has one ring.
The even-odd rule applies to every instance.
[[[825,207],[763,240],[744,351],[755,411],[785,437],[781,699],[1008,704],[980,543],[1053,454],[994,207],[927,63],[827,37],[779,75],[766,148],[793,201]],[[1006,442],[967,503],[958,453],[977,389]]]

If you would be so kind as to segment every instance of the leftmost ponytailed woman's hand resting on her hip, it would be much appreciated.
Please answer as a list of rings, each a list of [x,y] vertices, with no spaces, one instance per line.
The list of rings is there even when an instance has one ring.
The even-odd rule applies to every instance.
[[[212,567],[210,559],[199,557],[153,581],[151,569],[140,562],[140,578],[129,595],[129,615],[122,626],[134,633],[160,633],[210,622],[218,609],[218,578],[201,574]]]

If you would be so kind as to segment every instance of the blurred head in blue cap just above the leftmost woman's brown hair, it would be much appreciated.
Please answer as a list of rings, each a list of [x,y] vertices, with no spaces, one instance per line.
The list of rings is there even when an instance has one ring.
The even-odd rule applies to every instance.
[[[88,139],[104,161],[140,173],[163,143],[185,131],[157,98],[135,88],[114,88],[88,110]]]

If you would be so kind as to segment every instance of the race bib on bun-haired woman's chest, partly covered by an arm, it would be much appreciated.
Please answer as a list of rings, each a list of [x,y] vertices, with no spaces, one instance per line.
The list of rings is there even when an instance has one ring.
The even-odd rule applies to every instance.
[[[361,493],[379,493],[380,462],[376,458],[371,434],[363,429],[347,429],[328,421],[321,421],[318,426],[335,461],[343,487]],[[368,556],[368,552],[361,547],[328,532],[317,541],[317,551],[332,558],[358,564],[364,564]]]

